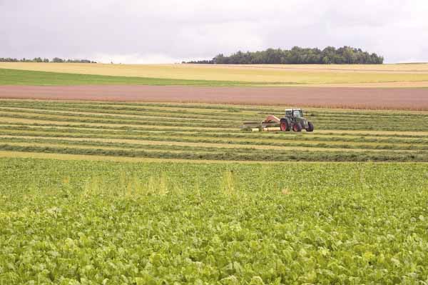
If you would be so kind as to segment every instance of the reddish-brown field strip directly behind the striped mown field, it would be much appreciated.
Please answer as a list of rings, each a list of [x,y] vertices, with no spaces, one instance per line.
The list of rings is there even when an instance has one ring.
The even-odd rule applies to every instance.
[[[198,86],[0,86],[2,99],[164,101],[428,111],[428,89]]]

